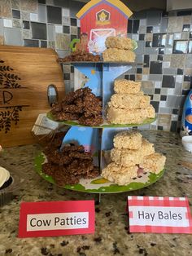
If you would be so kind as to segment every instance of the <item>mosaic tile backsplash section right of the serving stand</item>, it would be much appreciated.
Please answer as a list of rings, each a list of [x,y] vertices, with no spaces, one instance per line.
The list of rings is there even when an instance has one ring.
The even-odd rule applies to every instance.
[[[142,11],[129,20],[137,62],[126,78],[142,81],[157,121],[151,129],[179,131],[185,97],[192,89],[192,11]]]

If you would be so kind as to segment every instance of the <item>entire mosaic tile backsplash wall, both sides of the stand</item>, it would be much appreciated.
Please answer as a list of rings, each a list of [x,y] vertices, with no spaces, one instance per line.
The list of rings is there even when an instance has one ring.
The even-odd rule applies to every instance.
[[[0,44],[51,47],[60,57],[69,55],[69,43],[80,34],[76,12],[84,4],[0,0]],[[185,96],[192,88],[192,11],[134,13],[128,36],[137,41],[137,62],[144,65],[129,70],[125,78],[142,81],[157,113],[155,123],[145,128],[178,131]],[[72,66],[63,66],[63,78],[72,89]]]

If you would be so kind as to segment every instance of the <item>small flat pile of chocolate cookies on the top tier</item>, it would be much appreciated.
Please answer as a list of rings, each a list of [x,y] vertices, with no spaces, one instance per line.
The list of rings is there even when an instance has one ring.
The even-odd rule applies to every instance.
[[[71,55],[64,58],[59,58],[59,62],[71,62],[71,61],[100,61],[99,55],[93,55],[88,51],[74,51]]]

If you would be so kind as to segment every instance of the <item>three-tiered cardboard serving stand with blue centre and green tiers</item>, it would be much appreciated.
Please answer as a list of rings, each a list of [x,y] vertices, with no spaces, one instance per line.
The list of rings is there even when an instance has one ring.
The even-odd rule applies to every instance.
[[[78,121],[61,121],[63,124],[71,126],[67,135],[63,138],[63,143],[70,143],[76,141],[85,147],[85,151],[92,152],[94,157],[94,165],[99,166],[103,170],[107,163],[104,158],[104,152],[113,148],[113,137],[116,133],[122,130],[129,130],[133,126],[143,126],[155,121],[155,118],[148,118],[142,124],[131,125],[113,125],[107,123],[106,107],[111,95],[114,94],[113,83],[117,77],[126,73],[133,66],[141,66],[142,64],[135,63],[114,63],[114,62],[72,62],[70,63],[77,68],[89,81],[85,87],[89,87],[94,95],[102,97],[103,99],[103,124],[100,126],[82,126]],[[47,117],[54,120],[51,113]],[[41,171],[41,165],[46,161],[45,155],[40,153],[35,160],[35,169],[43,179],[55,184],[55,180]],[[133,179],[133,181],[126,186],[119,186],[115,183],[109,182],[107,179],[99,176],[94,179],[80,179],[80,182],[72,185],[65,185],[63,188],[78,191],[98,193],[99,198],[102,193],[117,193],[129,192],[141,189],[155,183],[164,174],[162,170],[159,174],[146,173],[142,176]]]

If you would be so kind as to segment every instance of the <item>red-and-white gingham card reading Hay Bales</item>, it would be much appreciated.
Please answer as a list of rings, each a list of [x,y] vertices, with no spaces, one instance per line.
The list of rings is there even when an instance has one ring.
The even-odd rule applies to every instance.
[[[185,197],[128,196],[129,232],[192,233]]]

